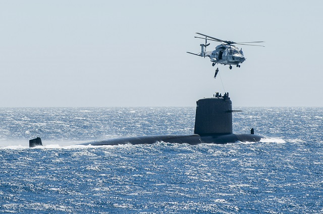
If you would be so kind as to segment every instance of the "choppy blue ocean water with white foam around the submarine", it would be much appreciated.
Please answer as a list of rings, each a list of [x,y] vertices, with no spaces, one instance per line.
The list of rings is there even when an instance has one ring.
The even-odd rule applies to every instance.
[[[267,138],[75,146],[191,134],[195,108],[0,108],[0,212],[323,213],[323,108],[234,109]]]

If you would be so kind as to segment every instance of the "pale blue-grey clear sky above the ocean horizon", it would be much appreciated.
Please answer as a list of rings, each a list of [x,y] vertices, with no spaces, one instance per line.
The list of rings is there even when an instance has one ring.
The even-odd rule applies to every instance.
[[[323,107],[323,1],[0,0],[0,107]],[[242,46],[211,66],[200,32]],[[207,50],[220,43],[210,41]],[[214,79],[216,67],[220,72]]]

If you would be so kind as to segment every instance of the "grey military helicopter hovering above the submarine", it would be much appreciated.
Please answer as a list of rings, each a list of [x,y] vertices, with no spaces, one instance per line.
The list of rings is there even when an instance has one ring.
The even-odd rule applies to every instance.
[[[246,58],[243,55],[242,48],[239,50],[238,47],[234,46],[233,44],[238,45],[251,45],[251,46],[261,46],[263,45],[255,45],[255,44],[244,44],[244,43],[259,43],[264,41],[258,41],[258,42],[233,42],[228,40],[222,40],[217,39],[202,33],[196,33],[201,36],[205,36],[205,38],[194,36],[194,38],[200,38],[205,39],[205,44],[200,44],[201,46],[201,52],[199,53],[191,53],[197,56],[208,56],[210,58],[210,61],[212,62],[212,66],[216,64],[229,64],[229,68],[232,69],[232,65],[236,65],[237,67],[240,67],[240,63],[244,62]],[[222,44],[218,45],[215,50],[212,51],[206,51],[206,47],[210,44],[207,44],[207,40],[216,41],[216,42],[223,42]]]

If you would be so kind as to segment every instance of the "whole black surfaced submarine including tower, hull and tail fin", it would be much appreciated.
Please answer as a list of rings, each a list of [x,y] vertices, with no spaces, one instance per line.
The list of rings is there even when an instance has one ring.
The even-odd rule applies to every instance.
[[[232,131],[232,113],[239,110],[232,110],[232,101],[229,93],[224,96],[203,98],[196,101],[196,114],[194,134],[186,135],[152,135],[135,136],[124,138],[112,138],[99,141],[85,142],[78,145],[104,146],[104,145],[138,145],[154,144],[155,142],[168,142],[171,144],[228,144],[233,142],[257,142],[261,135],[254,134],[251,128],[250,133],[235,134]],[[29,148],[42,146],[40,137],[29,140]]]

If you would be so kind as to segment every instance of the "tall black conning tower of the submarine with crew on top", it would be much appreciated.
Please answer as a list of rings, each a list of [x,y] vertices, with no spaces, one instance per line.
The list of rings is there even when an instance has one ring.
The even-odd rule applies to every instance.
[[[196,101],[194,134],[232,134],[232,112],[227,94]]]

